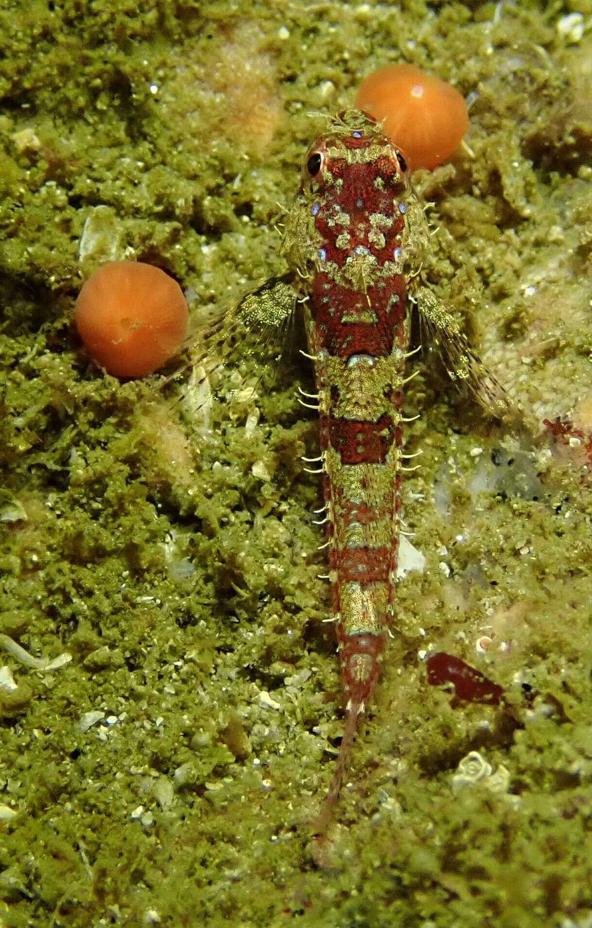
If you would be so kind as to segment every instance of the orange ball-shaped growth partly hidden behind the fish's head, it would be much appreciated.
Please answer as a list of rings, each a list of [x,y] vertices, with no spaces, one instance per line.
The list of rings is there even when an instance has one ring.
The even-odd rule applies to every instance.
[[[435,168],[462,141],[469,110],[451,84],[411,64],[393,64],[362,81],[355,106],[365,110],[400,147],[412,168]]]

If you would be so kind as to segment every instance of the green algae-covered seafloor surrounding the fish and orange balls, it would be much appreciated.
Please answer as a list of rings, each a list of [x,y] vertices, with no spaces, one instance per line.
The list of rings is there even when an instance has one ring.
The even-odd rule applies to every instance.
[[[592,432],[589,0],[0,6],[0,633],[72,658],[0,652],[0,924],[589,928],[592,477],[542,425]],[[425,566],[319,870],[342,705],[302,333],[279,364],[240,342],[209,380],[120,383],[71,318],[112,258],[169,271],[196,327],[281,273],[320,114],[396,61],[471,95],[472,156],[416,177],[422,273],[524,426],[418,360]],[[434,650],[513,710],[453,706]]]

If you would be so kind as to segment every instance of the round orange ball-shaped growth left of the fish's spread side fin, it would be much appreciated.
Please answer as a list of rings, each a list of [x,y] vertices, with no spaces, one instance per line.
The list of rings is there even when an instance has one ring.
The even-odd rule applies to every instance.
[[[109,374],[144,377],[185,341],[187,300],[160,267],[113,261],[83,284],[74,319],[88,354]]]

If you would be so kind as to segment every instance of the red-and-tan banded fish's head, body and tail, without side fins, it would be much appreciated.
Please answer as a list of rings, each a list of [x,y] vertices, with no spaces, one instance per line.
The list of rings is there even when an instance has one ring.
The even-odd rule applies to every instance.
[[[409,230],[411,215],[417,232]],[[418,263],[424,228],[405,159],[380,126],[357,110],[333,120],[309,149],[282,243],[302,280],[315,364],[325,475],[319,521],[328,526],[328,578],[348,700],[340,756],[317,822],[321,835],[393,624],[409,344],[405,246]]]

